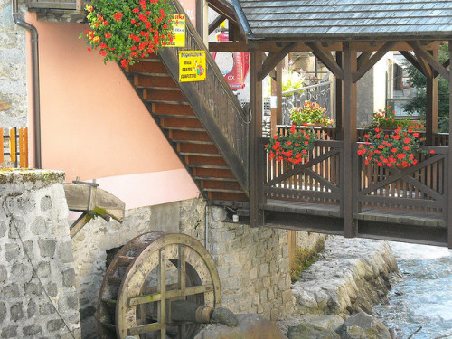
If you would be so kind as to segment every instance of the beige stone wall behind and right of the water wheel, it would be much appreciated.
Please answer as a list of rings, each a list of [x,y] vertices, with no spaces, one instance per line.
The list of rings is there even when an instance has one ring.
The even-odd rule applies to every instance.
[[[181,232],[200,240],[217,265],[222,305],[233,312],[272,319],[292,312],[287,232],[226,222],[219,207],[207,211],[207,244],[201,199],[129,210],[122,224],[95,218],[72,239],[83,338],[96,337],[94,315],[107,251],[146,231]]]

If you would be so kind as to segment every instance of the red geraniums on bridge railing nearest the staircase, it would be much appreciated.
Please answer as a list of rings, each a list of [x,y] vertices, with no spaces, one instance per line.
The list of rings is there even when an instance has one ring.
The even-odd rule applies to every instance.
[[[297,129],[292,125],[287,135],[276,135],[265,145],[268,159],[287,161],[291,164],[307,164],[309,153],[314,148],[315,133],[310,128]]]

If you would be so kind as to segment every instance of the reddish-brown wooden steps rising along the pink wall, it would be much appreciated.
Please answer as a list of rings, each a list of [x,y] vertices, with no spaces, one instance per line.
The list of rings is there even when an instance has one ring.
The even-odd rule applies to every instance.
[[[203,196],[212,202],[247,202],[246,187],[221,154],[215,135],[202,125],[160,57],[140,60],[126,74]]]

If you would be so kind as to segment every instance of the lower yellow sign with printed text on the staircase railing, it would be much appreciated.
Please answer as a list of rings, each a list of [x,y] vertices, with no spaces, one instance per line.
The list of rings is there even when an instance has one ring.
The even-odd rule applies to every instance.
[[[179,52],[179,82],[205,81],[205,51]]]

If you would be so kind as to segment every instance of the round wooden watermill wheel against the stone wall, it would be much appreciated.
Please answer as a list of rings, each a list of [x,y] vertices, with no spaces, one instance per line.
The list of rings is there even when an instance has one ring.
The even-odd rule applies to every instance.
[[[102,281],[99,337],[190,338],[199,325],[174,321],[171,315],[172,303],[181,300],[221,306],[220,278],[210,253],[184,234],[141,234],[118,251]]]

